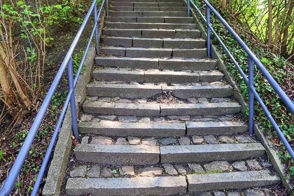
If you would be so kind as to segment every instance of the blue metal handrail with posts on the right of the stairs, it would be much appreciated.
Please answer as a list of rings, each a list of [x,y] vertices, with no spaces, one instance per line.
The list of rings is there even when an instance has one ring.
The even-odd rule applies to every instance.
[[[221,15],[213,8],[213,6],[207,1],[203,0],[206,4],[206,18],[203,16],[201,11],[197,8],[195,3],[191,0],[187,0],[187,11],[188,11],[188,17],[190,17],[190,2],[200,15],[200,17],[204,20],[206,24],[206,32],[207,32],[207,56],[211,57],[211,51],[210,51],[210,31],[214,34],[214,36],[217,38],[219,43],[221,44],[221,47],[225,50],[225,52],[228,54],[232,62],[237,67],[238,71],[241,73],[243,78],[245,79],[246,83],[249,86],[249,133],[254,133],[254,122],[253,122],[253,116],[254,116],[254,97],[259,102],[260,106],[264,110],[267,118],[270,120],[270,123],[272,124],[273,128],[277,132],[278,136],[280,137],[281,141],[285,145],[286,149],[288,150],[289,154],[291,155],[292,159],[294,159],[294,150],[288,143],[287,139],[283,135],[282,131],[280,130],[278,124],[274,121],[272,118],[268,108],[262,101],[262,99],[257,94],[256,90],[254,89],[254,64],[259,69],[259,71],[264,75],[264,77],[269,81],[271,87],[274,89],[274,91],[280,96],[280,98],[284,101],[287,108],[291,111],[292,114],[294,114],[294,103],[292,100],[286,95],[286,93],[281,89],[281,87],[278,85],[278,83],[273,79],[273,77],[270,75],[270,73],[267,71],[267,69],[263,66],[263,64],[259,61],[259,59],[255,56],[255,54],[246,46],[245,42],[237,35],[237,33],[230,27],[230,25],[227,24],[227,22],[221,17]],[[233,57],[231,52],[227,49],[227,47],[223,44],[218,34],[214,31],[214,29],[210,25],[210,11],[212,11],[215,16],[219,19],[219,21],[226,27],[226,29],[230,32],[230,34],[235,38],[235,40],[239,43],[239,45],[245,50],[245,52],[248,55],[248,78],[246,74],[243,72],[242,68],[237,63],[236,59]]]

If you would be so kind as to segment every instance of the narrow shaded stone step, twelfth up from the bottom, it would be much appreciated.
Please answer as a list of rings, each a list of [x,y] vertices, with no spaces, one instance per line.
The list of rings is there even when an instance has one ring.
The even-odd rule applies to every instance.
[[[191,24],[194,23],[192,17],[105,17],[105,21],[121,23],[173,23]]]

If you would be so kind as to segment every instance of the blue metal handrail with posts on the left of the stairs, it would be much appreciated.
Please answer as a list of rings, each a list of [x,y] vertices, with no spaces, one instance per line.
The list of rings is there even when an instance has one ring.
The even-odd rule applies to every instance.
[[[106,3],[105,3],[106,2]],[[38,176],[37,176],[37,179],[36,179],[36,182],[34,184],[34,187],[33,187],[33,190],[32,190],[32,193],[31,193],[31,196],[36,196],[38,191],[39,191],[39,186],[40,186],[40,183],[42,181],[42,178],[43,178],[43,175],[44,175],[44,172],[46,170],[46,167],[47,167],[47,164],[49,162],[49,158],[50,158],[50,154],[52,152],[52,149],[54,147],[54,143],[55,143],[55,140],[57,138],[57,135],[58,135],[58,132],[59,132],[59,129],[62,125],[62,121],[64,119],[64,116],[65,116],[65,113],[66,113],[66,110],[68,108],[68,105],[69,103],[71,103],[71,114],[72,114],[72,127],[73,127],[73,135],[76,139],[78,139],[78,131],[77,131],[77,119],[76,119],[76,108],[75,108],[75,98],[74,98],[74,87],[77,83],[77,79],[78,79],[78,76],[82,70],[82,66],[84,64],[84,61],[86,59],[86,55],[87,55],[87,52],[90,48],[90,45],[91,45],[91,42],[92,42],[92,39],[93,39],[93,36],[95,34],[95,48],[96,48],[96,53],[98,54],[98,51],[99,51],[99,48],[98,48],[98,44],[99,44],[99,40],[98,40],[98,18],[101,14],[101,11],[102,11],[102,7],[104,6],[104,3],[106,4],[106,16],[108,16],[108,0],[103,0],[101,5],[100,5],[100,8],[99,8],[99,11],[97,13],[97,0],[93,0],[90,8],[89,8],[89,11],[87,13],[87,15],[85,16],[85,19],[83,21],[83,23],[81,24],[79,30],[77,31],[76,33],[76,36],[75,38],[73,39],[73,43],[70,47],[70,49],[68,50],[67,54],[65,55],[65,58],[58,70],[58,72],[56,73],[56,76],[54,77],[53,79],[53,82],[49,88],[49,91],[46,95],[46,97],[44,98],[44,101],[39,109],[39,112],[25,138],[25,141],[22,145],[22,148],[7,176],[7,178],[5,179],[5,183],[2,187],[2,189],[0,190],[0,196],[9,196],[13,187],[14,187],[14,184],[16,182],[16,179],[17,179],[17,176],[19,175],[21,169],[22,169],[22,166],[25,162],[25,157],[27,156],[27,153],[32,145],[32,142],[36,136],[36,133],[44,119],[44,116],[46,114],[46,111],[49,107],[49,104],[51,102],[51,99],[52,99],[52,96],[54,95],[55,93],[55,90],[66,70],[66,68],[68,69],[68,79],[69,79],[69,93],[67,95],[67,98],[65,100],[65,103],[63,105],[63,108],[61,110],[61,114],[58,118],[58,121],[55,125],[55,129],[54,129],[54,132],[52,134],[52,138],[51,138],[51,141],[49,143],[49,147],[47,149],[47,152],[46,152],[46,155],[44,157],[44,160],[42,162],[42,165],[41,165],[41,168],[40,168],[40,171],[38,173]],[[89,18],[92,14],[92,11],[94,10],[94,27],[93,27],[93,30],[91,32],[91,35],[89,37],[89,41],[88,41],[88,44],[87,44],[87,47],[85,49],[85,52],[83,54],[83,57],[82,57],[82,60],[80,62],[80,65],[79,65],[79,68],[77,70],[77,73],[75,75],[75,77],[73,78],[73,59],[72,59],[72,55],[73,55],[73,51],[77,45],[77,43],[79,42],[79,39],[81,37],[81,34],[82,32],[84,31],[84,28],[87,24],[87,22],[89,21]]]

